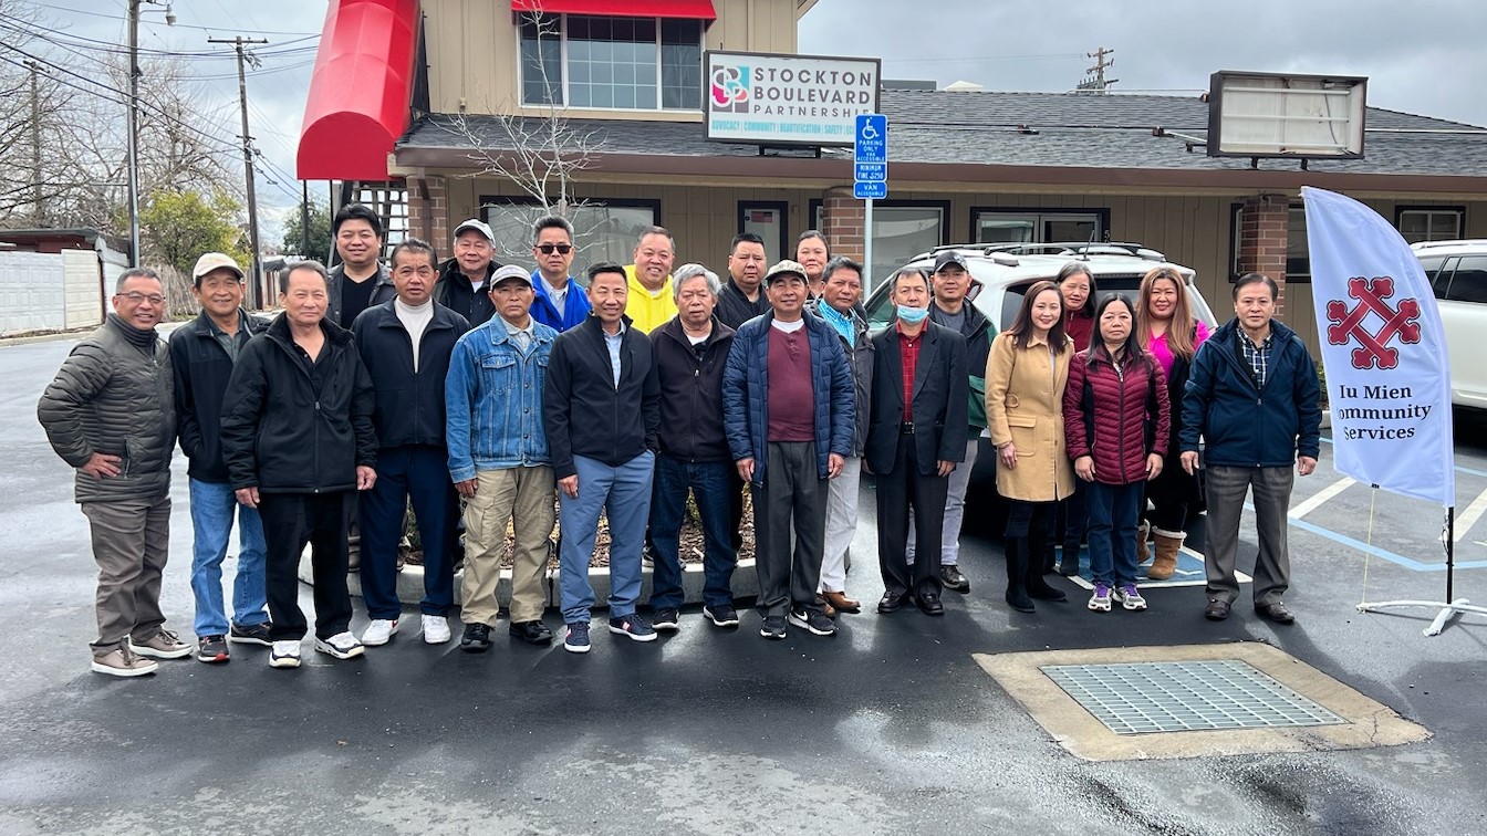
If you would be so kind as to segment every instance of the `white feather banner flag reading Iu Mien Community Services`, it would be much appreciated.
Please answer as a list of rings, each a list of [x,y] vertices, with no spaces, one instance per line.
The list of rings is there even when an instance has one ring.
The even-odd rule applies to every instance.
[[[1338,472],[1456,506],[1451,370],[1420,260],[1378,213],[1301,189]]]

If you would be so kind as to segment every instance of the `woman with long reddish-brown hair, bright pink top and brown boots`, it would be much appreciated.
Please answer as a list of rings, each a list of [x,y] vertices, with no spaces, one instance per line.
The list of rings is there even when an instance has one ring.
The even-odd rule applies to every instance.
[[[1146,272],[1136,298],[1136,339],[1167,376],[1173,439],[1182,430],[1182,391],[1188,384],[1188,366],[1207,336],[1207,324],[1193,317],[1182,274],[1167,266]],[[1176,571],[1178,550],[1187,537],[1188,513],[1199,504],[1197,478],[1182,469],[1176,445],[1172,448],[1161,476],[1146,485],[1146,500],[1151,503],[1149,531],[1157,546],[1157,556],[1146,570],[1146,577],[1152,580],[1166,580]],[[1139,561],[1145,561],[1145,528],[1138,534]]]

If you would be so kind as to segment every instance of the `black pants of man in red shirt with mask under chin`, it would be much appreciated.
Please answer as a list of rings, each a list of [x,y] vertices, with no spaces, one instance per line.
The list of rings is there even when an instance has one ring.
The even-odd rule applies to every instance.
[[[915,552],[931,558],[940,553],[949,494],[950,478],[938,472],[920,473],[915,437],[898,436],[894,469],[877,475],[877,567],[883,573],[883,589],[915,595],[941,592],[940,561],[916,559],[910,568],[906,552],[909,513],[913,509]]]

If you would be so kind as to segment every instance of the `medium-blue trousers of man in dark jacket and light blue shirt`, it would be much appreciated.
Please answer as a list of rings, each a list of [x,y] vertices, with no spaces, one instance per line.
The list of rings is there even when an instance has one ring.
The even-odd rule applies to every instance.
[[[610,617],[633,614],[635,599],[641,597],[641,544],[645,543],[645,521],[650,518],[656,454],[645,451],[619,467],[575,455],[572,466],[578,472],[577,498],[558,489],[562,620],[587,622],[593,608],[589,561],[593,558],[601,510],[610,518]]]

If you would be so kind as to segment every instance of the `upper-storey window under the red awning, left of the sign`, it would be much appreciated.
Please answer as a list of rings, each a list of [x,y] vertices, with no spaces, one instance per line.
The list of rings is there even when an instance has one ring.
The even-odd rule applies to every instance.
[[[702,107],[703,21],[522,15],[522,104]]]

